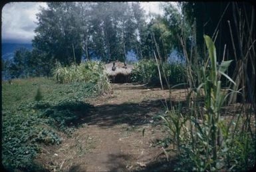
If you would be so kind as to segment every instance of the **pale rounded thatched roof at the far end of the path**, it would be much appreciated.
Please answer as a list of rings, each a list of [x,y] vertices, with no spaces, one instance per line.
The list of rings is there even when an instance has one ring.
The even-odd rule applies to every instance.
[[[105,64],[105,71],[109,76],[116,76],[117,74],[128,75],[134,69],[134,66],[131,64],[126,64],[126,68],[124,67],[123,62],[116,62],[116,70],[112,70],[113,63]]]

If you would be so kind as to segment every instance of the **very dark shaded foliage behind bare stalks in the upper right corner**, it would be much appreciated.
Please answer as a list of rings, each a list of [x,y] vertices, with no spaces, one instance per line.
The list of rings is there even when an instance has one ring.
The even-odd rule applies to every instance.
[[[197,53],[204,54],[203,34],[211,35],[217,46],[217,61],[234,60],[227,74],[243,96],[233,94],[229,103],[249,101],[255,105],[255,9],[247,2],[182,2],[182,11],[195,25]],[[243,26],[243,27],[242,27]],[[241,29],[243,28],[243,29]],[[241,36],[243,35],[243,36]]]

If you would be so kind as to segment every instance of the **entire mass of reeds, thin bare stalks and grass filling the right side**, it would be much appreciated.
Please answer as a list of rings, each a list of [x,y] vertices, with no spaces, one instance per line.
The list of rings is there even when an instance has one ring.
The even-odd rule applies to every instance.
[[[171,95],[175,86],[170,88],[169,84],[171,103],[166,103],[166,113],[160,116],[174,145],[165,153],[178,152],[174,167],[178,171],[246,171],[255,165],[255,37],[252,37],[255,13],[252,9],[251,17],[247,16],[237,3],[232,3],[232,8],[237,35],[227,22],[233,60],[225,60],[225,57],[230,59],[225,45],[222,61],[217,62],[214,45],[217,28],[214,41],[204,36],[207,49],[204,54],[199,54],[195,45],[195,24],[192,35],[186,35],[182,28],[183,36],[178,36],[186,58],[188,82],[184,84],[189,86],[188,98],[186,106],[181,102],[174,106]],[[193,46],[188,47],[188,41],[193,41]],[[232,73],[228,73],[229,66],[233,67],[229,69]],[[159,75],[166,74],[160,70],[164,70],[161,61]],[[237,103],[239,96],[241,100]]]

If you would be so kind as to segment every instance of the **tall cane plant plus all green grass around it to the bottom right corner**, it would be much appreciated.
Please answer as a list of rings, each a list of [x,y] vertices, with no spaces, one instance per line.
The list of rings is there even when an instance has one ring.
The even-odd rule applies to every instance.
[[[247,113],[253,112],[240,111],[227,118],[229,120],[221,118],[229,95],[240,92],[221,88],[221,76],[229,80],[231,86],[235,85],[225,74],[232,60],[223,60],[218,65],[213,41],[207,35],[204,39],[209,57],[203,66],[197,66],[199,70],[196,77],[189,76],[192,80],[188,93],[188,112],[182,113],[181,106],[178,106],[161,116],[170,135],[174,137],[173,144],[178,151],[175,169],[249,170],[255,164],[255,133],[247,127],[247,123],[251,125]],[[193,84],[197,86],[193,88]]]

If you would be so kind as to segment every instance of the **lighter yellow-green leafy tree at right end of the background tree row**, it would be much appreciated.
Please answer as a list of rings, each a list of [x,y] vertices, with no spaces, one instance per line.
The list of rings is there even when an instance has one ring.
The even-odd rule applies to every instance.
[[[162,9],[164,16],[156,16],[155,19],[152,19],[148,23],[148,30],[151,33],[151,39],[153,39],[150,41],[152,45],[155,44],[149,51],[152,52],[154,50],[166,62],[172,49],[176,49],[179,52],[182,50],[182,46],[180,46],[178,40],[178,35],[182,32],[182,27],[186,33],[190,33],[191,29],[188,22],[184,23],[185,19],[177,7],[174,7],[170,3],[162,2]],[[156,42],[154,42],[154,39]],[[152,56],[154,56],[154,52],[152,52]]]

